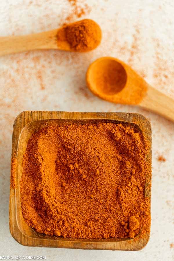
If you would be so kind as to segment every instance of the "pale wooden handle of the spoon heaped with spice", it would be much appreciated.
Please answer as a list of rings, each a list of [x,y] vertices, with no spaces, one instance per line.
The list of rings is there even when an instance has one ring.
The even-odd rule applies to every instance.
[[[58,49],[57,30],[38,34],[0,37],[0,56],[39,49]]]

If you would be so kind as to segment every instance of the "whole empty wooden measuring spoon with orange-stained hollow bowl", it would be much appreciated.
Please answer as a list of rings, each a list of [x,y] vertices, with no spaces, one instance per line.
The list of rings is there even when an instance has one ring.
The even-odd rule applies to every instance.
[[[102,57],[94,61],[87,70],[86,82],[88,88],[104,100],[139,105],[174,122],[174,100],[116,58]]]

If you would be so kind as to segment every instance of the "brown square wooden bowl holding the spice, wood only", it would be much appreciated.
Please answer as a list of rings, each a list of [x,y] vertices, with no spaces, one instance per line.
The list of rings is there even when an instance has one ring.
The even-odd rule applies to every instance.
[[[15,240],[25,246],[35,247],[64,247],[74,249],[108,249],[108,250],[140,250],[148,242],[149,233],[133,238],[109,239],[74,239],[48,236],[35,232],[29,227],[22,215],[20,202],[19,181],[22,175],[22,160],[28,139],[32,133],[43,128],[45,123],[52,121],[62,124],[92,123],[92,122],[127,122],[142,131],[142,134],[151,143],[151,124],[142,115],[137,113],[83,113],[83,112],[55,112],[55,111],[24,111],[14,121],[12,136],[12,157],[16,155],[15,189],[10,189],[10,232]],[[146,160],[151,166],[151,147],[146,155]],[[149,172],[147,172],[149,173]],[[149,176],[148,176],[149,175]],[[145,196],[151,197],[151,174],[146,177]],[[150,212],[150,209],[149,209]]]

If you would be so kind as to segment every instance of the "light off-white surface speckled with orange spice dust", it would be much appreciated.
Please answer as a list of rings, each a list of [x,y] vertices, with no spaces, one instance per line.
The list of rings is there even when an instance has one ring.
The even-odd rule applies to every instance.
[[[86,88],[85,73],[96,58],[115,56],[174,98],[174,2],[79,0],[77,6],[85,4],[81,18],[94,19],[103,31],[96,50],[84,54],[36,51],[0,58],[0,255],[46,255],[47,260],[62,261],[173,260],[174,124],[138,107],[98,99]],[[0,35],[58,28],[78,19],[74,8],[66,0],[1,0]],[[14,241],[8,225],[11,138],[14,118],[23,110],[138,112],[151,120],[152,225],[150,241],[142,251],[45,249]],[[166,162],[157,161],[159,155]]]

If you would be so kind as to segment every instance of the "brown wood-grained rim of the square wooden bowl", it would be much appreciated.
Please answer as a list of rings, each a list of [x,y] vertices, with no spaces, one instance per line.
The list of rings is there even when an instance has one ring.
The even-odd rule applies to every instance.
[[[93,113],[93,112],[56,112],[56,111],[23,111],[14,120],[13,135],[12,135],[12,157],[17,155],[18,145],[21,139],[22,131],[36,121],[50,120],[70,121],[90,121],[90,120],[114,120],[119,122],[127,122],[136,124],[142,131],[144,137],[148,138],[151,144],[151,124],[141,114],[138,113]],[[148,162],[151,165],[151,147],[148,151]],[[151,181],[151,174],[148,177]],[[26,234],[22,231],[19,225],[17,209],[17,189],[10,187],[10,207],[9,207],[9,225],[10,233],[13,238],[22,245],[36,247],[61,247],[73,249],[105,249],[105,250],[140,250],[147,244],[150,233],[141,237],[141,231],[137,237],[133,239],[73,239],[59,238],[42,235],[39,233]],[[148,196],[151,197],[151,186],[148,186]],[[150,211],[150,210],[149,210]],[[23,217],[22,217],[23,218]],[[33,230],[32,230],[33,231]]]

